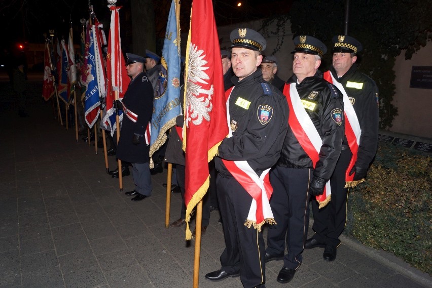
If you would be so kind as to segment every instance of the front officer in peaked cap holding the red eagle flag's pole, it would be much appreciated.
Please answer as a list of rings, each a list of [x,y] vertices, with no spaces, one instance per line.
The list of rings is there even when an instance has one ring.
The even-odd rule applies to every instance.
[[[221,255],[222,268],[205,278],[219,281],[240,274],[244,287],[264,287],[261,226],[273,223],[268,172],[279,158],[288,108],[283,95],[263,80],[258,69],[266,48],[264,37],[252,29],[240,28],[233,30],[230,38],[235,76],[234,87],[226,95],[227,125],[231,129],[215,160],[226,248]]]

